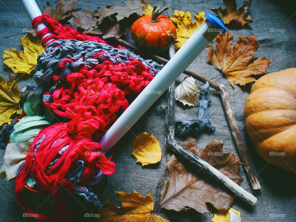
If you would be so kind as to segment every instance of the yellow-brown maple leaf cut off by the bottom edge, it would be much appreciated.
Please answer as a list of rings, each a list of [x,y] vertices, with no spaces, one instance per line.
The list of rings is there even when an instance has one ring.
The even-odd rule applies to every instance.
[[[133,193],[114,191],[122,206],[117,207],[107,201],[99,209],[101,222],[167,222],[168,220],[153,213],[153,198],[150,191],[144,198],[134,190]]]

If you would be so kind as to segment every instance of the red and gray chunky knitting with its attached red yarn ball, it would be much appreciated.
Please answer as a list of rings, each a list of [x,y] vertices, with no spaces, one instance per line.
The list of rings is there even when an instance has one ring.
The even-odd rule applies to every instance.
[[[36,84],[27,89],[37,91],[48,109],[69,121],[44,128],[34,138],[16,179],[15,195],[27,213],[37,214],[27,207],[22,194],[30,175],[55,202],[55,215],[37,214],[37,219],[73,221],[63,216],[68,210],[63,196],[78,193],[96,202],[86,187],[115,172],[114,162],[105,157],[98,141],[162,66],[62,26],[47,14],[35,18],[33,27],[40,21],[48,27],[37,33],[39,37],[53,33],[43,44],[58,40],[38,56]],[[77,168],[79,173],[73,176]]]

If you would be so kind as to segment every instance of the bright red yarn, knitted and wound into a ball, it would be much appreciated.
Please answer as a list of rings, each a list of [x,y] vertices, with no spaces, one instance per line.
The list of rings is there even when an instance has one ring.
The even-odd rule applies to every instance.
[[[39,31],[37,35],[43,36],[48,31],[53,33],[46,40],[54,37],[107,44],[99,37],[80,34],[76,29],[62,26],[48,14],[33,19],[33,27],[36,28],[41,21],[45,21],[48,28]],[[46,40],[43,39],[42,42]],[[93,58],[97,59],[104,53],[101,51]],[[105,61],[92,68],[83,66],[77,72],[68,74],[63,82],[57,82],[58,76],[53,76],[57,85],[51,94],[52,102],[44,104],[56,115],[69,118],[70,121],[55,123],[41,130],[30,147],[25,164],[16,179],[14,191],[28,214],[36,214],[39,220],[52,220],[54,217],[62,221],[74,220],[64,216],[72,215],[66,213],[64,195],[74,192],[73,188],[76,184],[67,179],[67,174],[79,159],[82,159],[86,166],[79,184],[81,186],[86,185],[97,170],[101,170],[105,175],[115,172],[114,162],[110,162],[101,153],[101,144],[94,141],[100,140],[117,117],[128,107],[128,100],[133,100],[153,79],[153,76],[148,73],[150,68],[134,58],[130,58],[129,61],[127,65]],[[59,68],[64,69],[72,62],[71,59],[65,58],[61,61]],[[46,92],[46,94],[50,93]],[[44,136],[45,138],[36,149],[36,143]],[[51,166],[59,151],[66,146],[68,146],[67,149]],[[45,216],[29,209],[22,194],[28,175],[35,178],[41,191],[51,193],[55,201],[55,215]]]

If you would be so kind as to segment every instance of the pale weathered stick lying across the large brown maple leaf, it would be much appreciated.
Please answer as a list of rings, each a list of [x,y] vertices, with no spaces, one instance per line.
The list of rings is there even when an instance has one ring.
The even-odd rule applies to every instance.
[[[173,44],[171,44],[171,47],[169,48],[169,54],[170,54],[170,57],[175,54],[175,48]],[[206,171],[209,175],[211,175],[212,177],[220,181],[225,187],[231,190],[235,196],[240,197],[248,204],[254,205],[257,201],[257,198],[255,196],[245,191],[242,187],[240,187],[234,181],[232,181],[227,176],[222,174],[220,171],[218,171],[215,167],[213,167],[207,161],[200,158],[199,156],[196,156],[189,150],[186,150],[183,146],[181,146],[175,140],[175,120],[174,120],[175,100],[174,98],[175,98],[175,83],[171,84],[171,86],[168,89],[168,134],[166,138],[167,145],[169,145],[175,153],[181,155],[183,158],[185,158],[192,164],[203,168],[204,171]]]

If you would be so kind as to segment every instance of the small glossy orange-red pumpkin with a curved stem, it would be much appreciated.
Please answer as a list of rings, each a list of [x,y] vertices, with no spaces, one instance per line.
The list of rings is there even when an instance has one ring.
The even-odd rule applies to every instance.
[[[152,15],[144,15],[134,22],[131,35],[144,48],[164,48],[176,39],[176,27],[167,16],[161,15],[169,7],[159,9],[154,6]]]

